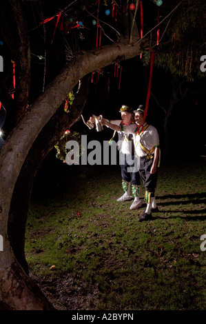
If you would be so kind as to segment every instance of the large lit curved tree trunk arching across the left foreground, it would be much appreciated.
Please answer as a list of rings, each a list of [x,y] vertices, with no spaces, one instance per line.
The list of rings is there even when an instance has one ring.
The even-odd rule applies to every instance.
[[[81,52],[52,81],[43,94],[34,102],[12,130],[0,152],[0,234],[3,236],[3,251],[0,263],[0,301],[6,301],[14,310],[42,310],[49,307],[39,300],[28,285],[22,267],[12,251],[8,239],[8,214],[14,185],[23,162],[35,139],[50,118],[65,100],[76,83],[86,74],[110,65],[115,61],[130,59],[140,53],[141,42],[128,46],[125,43],[106,45],[103,48]],[[17,272],[14,272],[14,265]],[[12,287],[12,289],[10,289]],[[5,307],[5,305],[4,305]]]

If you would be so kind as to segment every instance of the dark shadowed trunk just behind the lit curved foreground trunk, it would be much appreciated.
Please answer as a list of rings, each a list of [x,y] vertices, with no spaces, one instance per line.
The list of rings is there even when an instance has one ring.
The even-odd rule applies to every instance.
[[[63,132],[68,130],[80,118],[89,92],[89,83],[87,81],[87,76],[81,80],[81,88],[75,96],[70,114],[66,114],[63,106],[61,106],[45,125],[23,163],[14,187],[8,219],[8,236],[17,261],[27,273],[28,263],[24,254],[25,225],[34,178],[43,159],[59,141]]]

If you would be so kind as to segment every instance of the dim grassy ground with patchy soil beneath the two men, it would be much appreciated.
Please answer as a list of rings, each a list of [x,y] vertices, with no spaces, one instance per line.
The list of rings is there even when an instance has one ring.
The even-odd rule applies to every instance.
[[[145,205],[116,202],[120,167],[64,167],[36,184],[28,217],[25,254],[43,290],[68,310],[205,310],[205,161],[163,163],[160,212],[143,223]]]

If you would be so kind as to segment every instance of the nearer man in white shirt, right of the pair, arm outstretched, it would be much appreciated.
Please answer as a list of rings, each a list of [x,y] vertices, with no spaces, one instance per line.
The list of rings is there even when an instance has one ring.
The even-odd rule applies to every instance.
[[[144,121],[143,105],[139,105],[138,109],[134,110],[134,114],[137,126],[135,130],[131,125],[111,127],[104,119],[102,125],[108,125],[116,131],[121,130],[125,134],[133,134],[134,148],[139,159],[139,174],[145,186],[145,202],[147,203],[146,210],[138,221],[147,221],[152,219],[152,210],[154,212],[158,210],[154,194],[159,160],[159,136],[156,128]]]

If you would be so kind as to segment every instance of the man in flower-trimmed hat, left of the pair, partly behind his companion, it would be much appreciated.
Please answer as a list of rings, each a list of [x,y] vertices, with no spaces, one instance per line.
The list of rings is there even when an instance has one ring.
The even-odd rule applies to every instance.
[[[122,188],[124,194],[117,199],[117,201],[131,201],[132,197],[134,197],[134,201],[130,206],[130,210],[134,210],[141,207],[143,204],[143,201],[139,199],[141,188],[140,175],[134,165],[133,134],[125,134],[121,131],[121,127],[130,125],[130,128],[134,131],[136,129],[136,124],[134,122],[133,109],[128,105],[122,105],[119,112],[121,112],[121,119],[114,121],[109,121],[108,119],[102,120],[106,122],[104,125],[107,125],[109,128],[112,128],[113,126],[119,127],[119,130],[117,131],[119,136],[118,148],[120,152]],[[90,117],[90,121],[94,123],[94,117]],[[130,195],[131,184],[132,196]]]

